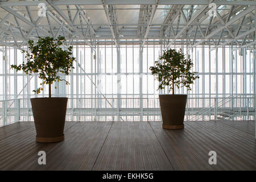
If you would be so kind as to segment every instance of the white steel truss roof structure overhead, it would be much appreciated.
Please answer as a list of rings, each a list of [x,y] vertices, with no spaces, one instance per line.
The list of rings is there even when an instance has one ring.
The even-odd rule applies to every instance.
[[[45,16],[38,14],[42,3]],[[216,5],[213,16],[210,3]],[[168,46],[247,47],[255,44],[255,5],[248,0],[1,1],[0,44],[20,48],[38,36],[62,35],[91,46],[95,40],[112,39],[118,46],[135,39],[143,47],[148,40],[159,39]]]

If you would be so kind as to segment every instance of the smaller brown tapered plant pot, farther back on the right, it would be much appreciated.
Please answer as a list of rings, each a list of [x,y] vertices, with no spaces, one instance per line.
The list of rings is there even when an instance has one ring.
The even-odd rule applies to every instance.
[[[187,95],[159,95],[163,129],[183,129]]]

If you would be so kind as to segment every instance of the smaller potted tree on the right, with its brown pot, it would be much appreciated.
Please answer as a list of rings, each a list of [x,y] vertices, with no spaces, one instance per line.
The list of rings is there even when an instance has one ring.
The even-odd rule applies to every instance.
[[[161,61],[162,60],[162,61]],[[161,63],[162,62],[162,63]],[[193,63],[191,59],[185,59],[180,49],[169,49],[163,51],[163,55],[155,61],[155,66],[150,67],[152,75],[158,75],[159,87],[169,86],[168,92],[172,94],[160,94],[160,109],[163,119],[163,129],[183,129],[185,106],[187,104],[187,94],[174,94],[175,86],[185,86],[191,90],[190,84],[199,76],[196,72],[191,72]]]

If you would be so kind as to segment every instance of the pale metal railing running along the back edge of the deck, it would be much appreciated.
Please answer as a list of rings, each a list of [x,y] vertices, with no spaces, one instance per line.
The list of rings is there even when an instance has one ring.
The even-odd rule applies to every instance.
[[[185,121],[254,120],[255,97],[188,97]],[[159,98],[69,98],[66,121],[161,121]],[[34,121],[30,99],[0,101],[0,126]]]

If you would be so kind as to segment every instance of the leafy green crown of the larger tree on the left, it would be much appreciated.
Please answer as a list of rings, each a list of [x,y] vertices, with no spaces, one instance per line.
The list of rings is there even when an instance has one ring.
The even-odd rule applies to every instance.
[[[43,90],[43,85],[49,85],[49,97],[51,97],[51,85],[53,81],[65,81],[66,84],[69,84],[68,81],[61,79],[58,72],[61,72],[65,75],[69,75],[73,67],[73,61],[75,57],[72,57],[72,47],[68,47],[67,50],[61,48],[61,45],[65,42],[63,36],[59,36],[57,39],[51,37],[40,38],[37,42],[34,40],[28,41],[29,51],[22,50],[26,54],[27,63],[20,65],[11,65],[11,68],[20,71],[21,69],[27,75],[32,73],[38,73],[39,78],[43,80],[40,84],[41,87],[33,90],[36,94],[40,93],[40,90]],[[56,87],[55,87],[56,88]]]

